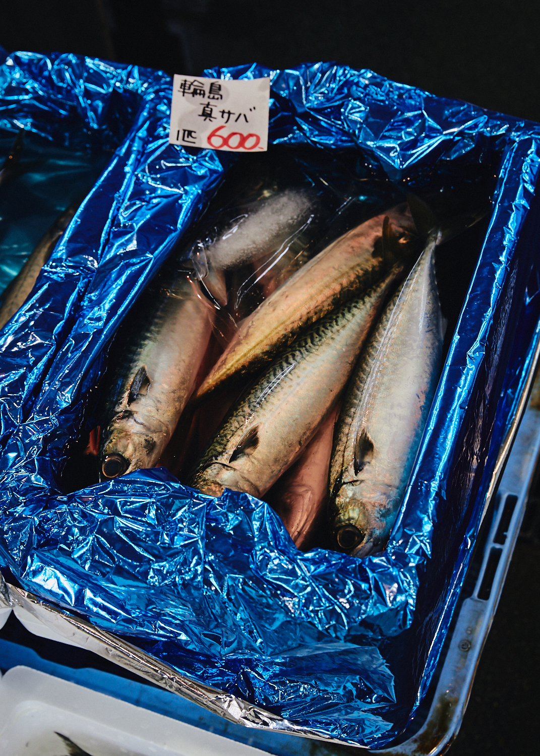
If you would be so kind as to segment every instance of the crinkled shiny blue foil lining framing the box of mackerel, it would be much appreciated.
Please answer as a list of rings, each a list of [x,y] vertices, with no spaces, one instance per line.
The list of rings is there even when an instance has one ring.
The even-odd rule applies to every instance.
[[[2,332],[3,562],[24,587],[197,680],[314,733],[380,747],[433,674],[538,338],[540,126],[334,64],[207,72],[270,76],[272,143],[360,147],[396,184],[501,156],[489,231],[386,551],[302,553],[265,503],[203,496],[164,469],[61,492],[110,337],[230,160],[170,146],[169,79],[132,71],[30,54],[0,70],[2,124],[14,127],[20,103],[28,128],[63,144],[85,129],[112,134],[134,91],[140,105]],[[59,88],[70,103],[62,118]]]

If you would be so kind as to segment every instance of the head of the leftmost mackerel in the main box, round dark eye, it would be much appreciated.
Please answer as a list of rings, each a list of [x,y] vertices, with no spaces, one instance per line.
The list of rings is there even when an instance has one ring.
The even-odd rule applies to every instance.
[[[117,478],[137,469],[153,467],[168,438],[162,429],[138,423],[133,413],[125,411],[107,428],[101,448],[101,476]]]

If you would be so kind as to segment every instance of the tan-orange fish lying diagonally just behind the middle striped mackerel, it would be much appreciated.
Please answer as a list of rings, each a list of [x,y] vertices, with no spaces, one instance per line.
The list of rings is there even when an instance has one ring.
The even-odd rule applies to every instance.
[[[195,401],[268,364],[301,330],[367,291],[396,261],[409,259],[416,248],[413,232],[407,206],[398,206],[352,228],[323,249],[244,318],[197,390]]]

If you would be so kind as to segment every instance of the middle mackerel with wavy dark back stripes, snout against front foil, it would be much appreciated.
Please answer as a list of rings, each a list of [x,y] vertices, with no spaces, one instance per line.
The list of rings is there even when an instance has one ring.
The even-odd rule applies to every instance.
[[[331,413],[399,269],[318,321],[245,389],[203,453],[193,488],[264,496]]]

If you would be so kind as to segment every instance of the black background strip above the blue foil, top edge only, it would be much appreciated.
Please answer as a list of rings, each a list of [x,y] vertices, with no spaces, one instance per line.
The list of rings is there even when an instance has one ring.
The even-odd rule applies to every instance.
[[[538,0],[0,0],[8,52],[76,52],[199,74],[337,60],[540,120]]]

